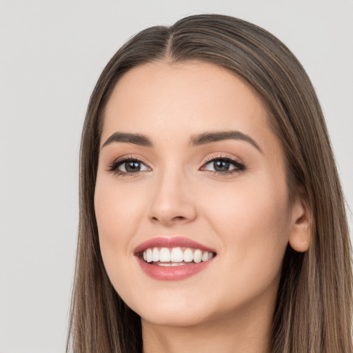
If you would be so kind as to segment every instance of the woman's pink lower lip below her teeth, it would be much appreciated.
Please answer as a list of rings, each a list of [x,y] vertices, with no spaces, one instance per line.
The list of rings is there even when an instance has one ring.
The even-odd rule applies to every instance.
[[[212,259],[208,261],[203,261],[200,263],[190,263],[190,265],[181,265],[181,266],[159,266],[151,265],[146,263],[139,257],[137,261],[141,266],[142,270],[150,276],[152,279],[158,279],[159,281],[180,281],[182,279],[187,279],[193,274],[199,273],[205,268],[208,267]]]

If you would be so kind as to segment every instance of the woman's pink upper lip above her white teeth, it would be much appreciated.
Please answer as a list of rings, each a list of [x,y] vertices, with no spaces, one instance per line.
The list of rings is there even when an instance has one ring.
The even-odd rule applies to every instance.
[[[149,239],[148,241],[144,241],[134,250],[134,254],[137,255],[143,250],[148,248],[177,248],[177,247],[185,247],[185,248],[194,248],[200,249],[203,251],[215,252],[212,248],[205,246],[197,241],[193,241],[191,239],[185,238],[183,236],[157,236],[155,238]]]

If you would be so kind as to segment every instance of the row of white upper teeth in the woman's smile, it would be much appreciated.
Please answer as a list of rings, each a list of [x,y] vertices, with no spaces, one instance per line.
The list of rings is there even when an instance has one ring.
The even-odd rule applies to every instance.
[[[192,262],[199,263],[212,259],[213,252],[200,249],[185,248],[148,248],[143,252],[143,260],[147,262]]]

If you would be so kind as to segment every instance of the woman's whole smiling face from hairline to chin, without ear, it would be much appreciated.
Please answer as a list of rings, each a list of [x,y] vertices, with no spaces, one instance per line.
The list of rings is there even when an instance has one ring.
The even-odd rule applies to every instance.
[[[123,301],[178,326],[271,309],[292,223],[284,170],[263,104],[228,70],[127,72],[105,111],[94,194]]]

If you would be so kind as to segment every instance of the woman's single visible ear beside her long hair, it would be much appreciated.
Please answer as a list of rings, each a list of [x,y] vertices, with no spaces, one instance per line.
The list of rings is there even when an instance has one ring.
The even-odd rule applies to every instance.
[[[305,252],[312,241],[312,212],[301,200],[297,199],[292,208],[292,224],[289,243],[293,250]]]

